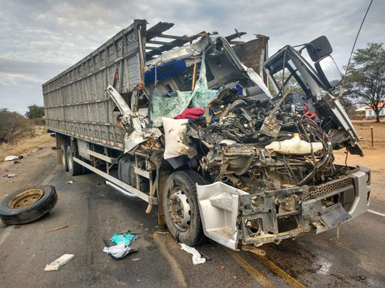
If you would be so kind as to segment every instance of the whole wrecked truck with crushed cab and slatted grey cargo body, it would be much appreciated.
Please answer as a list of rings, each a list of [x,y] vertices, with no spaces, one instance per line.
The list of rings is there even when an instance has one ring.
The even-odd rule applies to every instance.
[[[370,169],[334,164],[334,150],[363,154],[332,94],[326,37],[267,59],[266,36],[163,33],[172,26],[135,20],[43,84],[64,170],[158,206],[190,246],[279,243],[367,210]]]

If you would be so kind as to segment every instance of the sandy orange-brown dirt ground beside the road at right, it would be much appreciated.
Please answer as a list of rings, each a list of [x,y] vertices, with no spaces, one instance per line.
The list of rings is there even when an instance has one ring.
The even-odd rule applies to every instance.
[[[371,198],[385,201],[385,122],[353,120],[364,157],[348,155],[348,165],[368,166],[371,169]],[[371,129],[373,127],[374,147],[371,149]],[[346,154],[344,149],[334,151],[336,164],[344,164]]]

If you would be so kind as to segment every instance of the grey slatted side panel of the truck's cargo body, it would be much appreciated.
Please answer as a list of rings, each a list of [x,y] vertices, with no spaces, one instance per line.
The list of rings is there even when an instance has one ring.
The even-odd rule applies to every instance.
[[[106,87],[114,85],[118,92],[126,93],[143,85],[145,28],[144,20],[135,20],[86,58],[43,84],[48,129],[123,149],[124,135],[116,123]]]

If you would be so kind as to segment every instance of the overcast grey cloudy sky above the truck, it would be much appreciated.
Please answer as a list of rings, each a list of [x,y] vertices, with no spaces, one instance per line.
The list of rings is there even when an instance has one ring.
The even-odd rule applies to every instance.
[[[347,65],[369,0],[0,0],[0,108],[24,114],[43,105],[41,85],[101,46],[135,18],[150,26],[173,22],[165,32],[193,35],[238,31],[248,41],[270,37],[269,54],[327,36],[339,68]],[[385,1],[374,0],[356,48],[385,43]]]

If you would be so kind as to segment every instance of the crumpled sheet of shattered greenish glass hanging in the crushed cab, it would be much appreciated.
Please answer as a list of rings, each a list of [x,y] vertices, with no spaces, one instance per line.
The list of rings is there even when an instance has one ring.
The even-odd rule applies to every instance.
[[[162,117],[174,118],[186,108],[205,108],[208,102],[218,97],[218,90],[207,86],[205,58],[202,57],[199,79],[193,91],[174,91],[168,93],[154,88],[151,105],[151,122],[154,127],[162,126]]]

